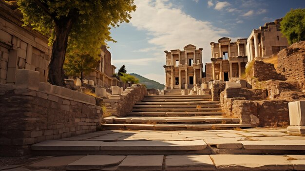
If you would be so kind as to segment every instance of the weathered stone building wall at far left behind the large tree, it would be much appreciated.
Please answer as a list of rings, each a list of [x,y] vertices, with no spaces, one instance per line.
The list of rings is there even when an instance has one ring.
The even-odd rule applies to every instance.
[[[48,38],[22,27],[21,19],[15,6],[0,1],[0,83],[15,84],[17,69],[38,71],[46,82],[52,51]]]

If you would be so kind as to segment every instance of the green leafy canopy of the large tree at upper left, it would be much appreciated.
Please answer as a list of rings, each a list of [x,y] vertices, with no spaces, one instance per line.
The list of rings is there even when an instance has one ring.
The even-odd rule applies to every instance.
[[[133,0],[18,0],[17,3],[24,24],[43,34],[51,33],[50,44],[59,21],[73,22],[68,45],[91,56],[98,55],[106,41],[114,41],[110,26],[129,22],[130,13],[135,11]]]

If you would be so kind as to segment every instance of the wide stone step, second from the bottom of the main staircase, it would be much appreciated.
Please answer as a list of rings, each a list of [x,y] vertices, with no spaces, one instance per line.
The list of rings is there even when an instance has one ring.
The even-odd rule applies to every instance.
[[[103,121],[108,121],[107,117]],[[239,123],[239,118],[225,118],[221,116],[192,116],[192,117],[117,117],[114,123]]]

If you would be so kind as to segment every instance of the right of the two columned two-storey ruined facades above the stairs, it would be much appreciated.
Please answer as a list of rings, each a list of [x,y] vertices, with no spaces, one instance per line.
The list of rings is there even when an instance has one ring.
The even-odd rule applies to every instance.
[[[224,80],[241,77],[247,63],[246,38],[230,42],[230,38],[220,38],[211,42],[211,63],[206,64],[205,81]]]

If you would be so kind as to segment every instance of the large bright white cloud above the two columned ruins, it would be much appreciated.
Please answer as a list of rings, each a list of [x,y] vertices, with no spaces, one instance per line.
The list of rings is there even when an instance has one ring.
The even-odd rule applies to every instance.
[[[137,10],[132,13],[133,19],[130,23],[139,30],[148,31],[148,42],[159,47],[155,50],[154,57],[158,55],[163,62],[164,50],[183,50],[188,44],[197,46],[197,49],[203,48],[203,60],[210,62],[210,42],[228,34],[227,30],[217,28],[208,21],[194,19],[181,9],[169,7],[164,0],[157,0],[154,3],[137,0],[135,4]],[[146,60],[142,62],[147,64]]]

